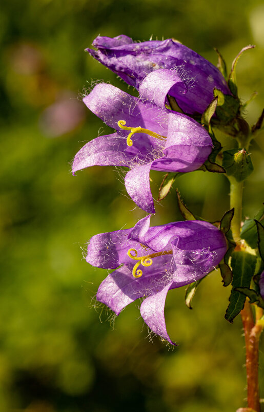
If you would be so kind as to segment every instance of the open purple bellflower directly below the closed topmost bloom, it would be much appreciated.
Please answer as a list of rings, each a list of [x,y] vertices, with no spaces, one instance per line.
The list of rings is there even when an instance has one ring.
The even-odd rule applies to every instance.
[[[148,213],[155,213],[150,170],[192,172],[207,160],[213,146],[207,130],[198,122],[166,108],[171,87],[184,87],[179,77],[175,85],[176,74],[170,73],[173,80],[165,76],[162,84],[144,79],[139,88],[144,99],[110,84],[97,84],[83,101],[116,132],[88,142],[72,164],[73,174],[94,165],[129,167],[126,190]]]

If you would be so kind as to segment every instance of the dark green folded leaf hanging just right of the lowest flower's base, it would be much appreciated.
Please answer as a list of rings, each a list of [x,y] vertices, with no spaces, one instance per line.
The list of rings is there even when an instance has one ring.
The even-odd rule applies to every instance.
[[[246,300],[246,295],[235,289],[250,287],[250,282],[255,271],[256,260],[256,256],[244,251],[234,252],[232,255],[231,267],[233,270],[233,288],[229,297],[230,303],[225,314],[226,320],[231,323],[241,309],[243,309]]]

